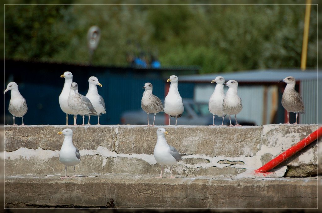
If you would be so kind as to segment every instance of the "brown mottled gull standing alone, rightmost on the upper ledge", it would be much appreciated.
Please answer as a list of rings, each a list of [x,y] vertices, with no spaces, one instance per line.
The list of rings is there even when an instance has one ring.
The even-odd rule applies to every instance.
[[[289,124],[289,112],[296,113],[296,120],[294,124],[297,124],[298,113],[304,113],[304,103],[302,101],[302,97],[300,93],[296,92],[295,87],[295,78],[293,76],[289,76],[280,80],[279,82],[285,82],[286,87],[284,93],[282,95],[282,106],[287,111],[287,123]]]

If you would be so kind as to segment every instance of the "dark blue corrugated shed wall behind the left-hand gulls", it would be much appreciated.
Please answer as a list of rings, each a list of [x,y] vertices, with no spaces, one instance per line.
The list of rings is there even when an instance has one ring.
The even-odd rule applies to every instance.
[[[99,94],[104,98],[106,114],[100,116],[101,124],[120,124],[123,111],[140,110],[143,86],[150,82],[153,84],[153,94],[161,99],[165,97],[165,85],[170,84],[166,79],[168,73],[176,74],[184,70],[136,70],[131,68],[85,67],[59,64],[39,64],[25,62],[6,62],[5,84],[15,81],[20,93],[27,102],[28,111],[24,116],[26,125],[64,125],[66,114],[61,110],[58,97],[64,85],[60,78],[65,71],[73,74],[73,81],[78,84],[79,93],[86,95],[88,91],[88,78],[96,76],[103,87],[98,87]],[[166,75],[166,76],[165,76]],[[163,77],[164,76],[164,77]],[[5,85],[6,87],[6,85]],[[178,89],[183,98],[193,98],[194,84],[181,84]],[[12,124],[12,115],[8,111],[10,92],[5,94],[5,124]],[[87,116],[85,116],[87,123]],[[97,124],[97,117],[91,117],[91,123]],[[21,124],[21,119],[15,119]],[[69,116],[69,124],[72,124]],[[81,124],[81,116],[77,124]]]

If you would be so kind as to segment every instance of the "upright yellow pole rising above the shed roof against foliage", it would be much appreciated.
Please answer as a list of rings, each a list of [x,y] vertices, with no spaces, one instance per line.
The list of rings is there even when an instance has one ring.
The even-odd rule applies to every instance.
[[[308,55],[308,29],[309,29],[309,25],[310,25],[310,11],[311,11],[311,0],[306,0],[302,56],[301,56],[301,70],[302,71],[304,71],[306,69],[306,59],[307,59],[307,55]]]

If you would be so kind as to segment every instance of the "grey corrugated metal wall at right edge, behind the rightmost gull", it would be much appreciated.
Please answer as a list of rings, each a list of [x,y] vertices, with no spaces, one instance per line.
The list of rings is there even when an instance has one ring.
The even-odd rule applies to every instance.
[[[300,123],[321,124],[322,123],[322,95],[318,92],[318,86],[322,85],[322,80],[304,80],[300,83],[300,90],[305,106],[305,114],[300,115]]]

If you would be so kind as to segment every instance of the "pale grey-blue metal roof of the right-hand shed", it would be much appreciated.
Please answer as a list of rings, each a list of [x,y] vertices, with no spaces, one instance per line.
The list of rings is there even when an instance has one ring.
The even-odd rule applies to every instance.
[[[300,69],[263,69],[248,70],[233,73],[212,73],[206,75],[180,75],[180,82],[211,82],[216,76],[223,76],[225,80],[235,80],[237,82],[270,82],[276,83],[287,76],[293,76],[296,81],[322,79],[322,75],[317,75],[321,70]]]

